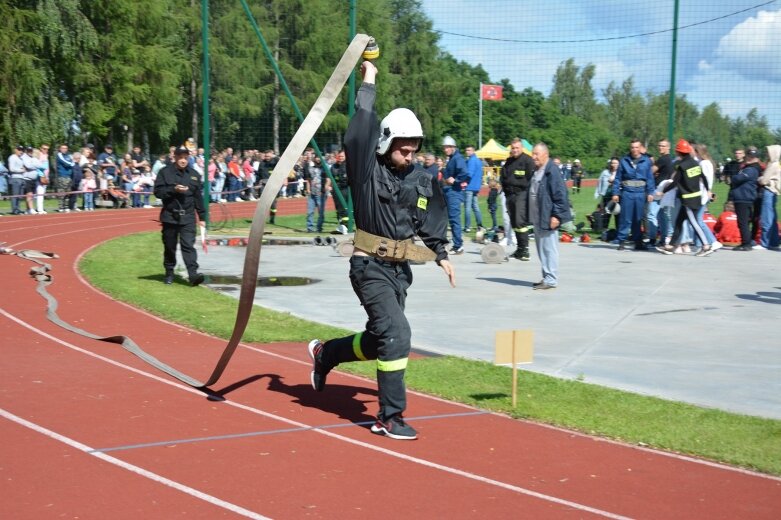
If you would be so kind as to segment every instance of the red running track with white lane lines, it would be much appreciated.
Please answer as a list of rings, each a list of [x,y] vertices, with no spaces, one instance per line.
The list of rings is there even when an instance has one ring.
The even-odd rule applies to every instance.
[[[279,214],[302,204],[281,201]],[[254,209],[230,206],[240,217]],[[60,255],[49,289],[66,321],[132,331],[148,352],[204,377],[224,341],[114,301],[78,274],[85,251],[154,230],[156,217],[3,217],[0,242]],[[116,345],[50,323],[30,263],[0,263],[0,518],[781,516],[781,479],[420,394],[408,409],[418,441],[374,436],[375,384],[333,373],[314,392],[302,344],[242,345],[214,388],[226,400],[211,401]]]

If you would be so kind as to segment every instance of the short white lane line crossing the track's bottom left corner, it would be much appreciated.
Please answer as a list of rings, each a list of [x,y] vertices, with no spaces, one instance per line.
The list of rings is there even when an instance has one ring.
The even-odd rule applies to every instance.
[[[106,455],[105,453],[100,453],[94,451],[89,446],[80,443],[79,441],[73,440],[70,437],[66,437],[64,435],[61,435],[57,432],[53,432],[47,428],[44,428],[43,426],[40,426],[38,424],[32,423],[26,419],[23,419],[17,415],[14,415],[10,412],[7,412],[6,410],[0,408],[0,416],[8,419],[9,421],[13,421],[16,424],[19,424],[21,426],[24,426],[25,428],[29,428],[37,433],[40,433],[42,435],[45,435],[46,437],[52,438],[56,441],[62,442],[63,444],[67,444],[68,446],[75,448],[83,453],[86,453],[88,455],[91,455],[93,457],[96,457],[104,462],[108,462],[109,464],[113,464],[115,466],[119,466],[122,469],[125,469],[127,471],[130,471],[132,473],[135,473],[137,475],[141,475],[142,477],[148,478],[149,480],[152,480],[153,482],[156,482],[158,484],[162,484],[164,486],[168,486],[170,488],[176,489],[177,491],[181,491],[182,493],[185,493],[187,495],[190,495],[192,497],[198,498],[203,500],[204,502],[208,502],[212,505],[215,505],[217,507],[221,507],[223,509],[227,509],[228,511],[231,511],[233,513],[236,513],[238,515],[247,517],[247,518],[255,518],[257,520],[266,520],[269,517],[260,515],[258,513],[255,513],[254,511],[250,511],[248,509],[244,509],[241,506],[238,506],[236,504],[232,504],[230,502],[226,502],[225,500],[222,500],[220,498],[217,498],[215,496],[209,495],[207,493],[204,493],[203,491],[198,491],[197,489],[191,488],[190,486],[185,486],[184,484],[180,484],[179,482],[176,482],[175,480],[171,480],[169,478],[163,477],[162,475],[158,475],[157,473],[152,473],[151,471],[145,470],[144,468],[139,468],[138,466],[135,466],[133,464],[129,464],[123,460],[119,460],[115,457],[112,457],[111,455]]]

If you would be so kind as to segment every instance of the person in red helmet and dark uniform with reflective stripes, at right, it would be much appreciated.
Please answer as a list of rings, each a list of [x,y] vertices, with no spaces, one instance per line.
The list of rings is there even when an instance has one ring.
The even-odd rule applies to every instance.
[[[675,154],[678,156],[678,162],[675,164],[673,172],[673,182],[668,184],[664,191],[670,191],[673,188],[678,190],[678,198],[681,201],[681,209],[675,219],[675,229],[673,238],[669,245],[657,246],[656,250],[666,255],[673,254],[675,246],[680,245],[681,235],[683,234],[683,223],[688,221],[692,229],[700,238],[703,246],[695,256],[708,256],[713,252],[710,241],[705,236],[705,232],[700,227],[697,219],[697,212],[702,206],[702,186],[707,185],[702,174],[702,167],[692,154],[694,149],[685,139],[679,139],[675,145]]]

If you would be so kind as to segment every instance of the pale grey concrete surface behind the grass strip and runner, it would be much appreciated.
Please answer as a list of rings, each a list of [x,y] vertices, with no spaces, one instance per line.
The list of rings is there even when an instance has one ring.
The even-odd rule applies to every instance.
[[[455,289],[436,264],[413,266],[415,348],[493,361],[496,331],[532,329],[534,362],[522,370],[781,419],[781,253],[725,248],[696,258],[560,244],[559,287],[534,291],[533,242],[529,262],[486,264],[481,247],[465,243],[452,258]],[[241,276],[244,253],[211,247],[199,261],[207,276]],[[319,281],[260,287],[255,301],[362,330],[366,315],[347,274],[347,258],[332,247],[264,246],[259,276]],[[235,285],[207,285],[238,297]]]

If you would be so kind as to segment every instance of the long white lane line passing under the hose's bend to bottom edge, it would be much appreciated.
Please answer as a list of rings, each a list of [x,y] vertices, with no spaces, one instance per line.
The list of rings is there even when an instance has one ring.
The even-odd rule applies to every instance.
[[[194,389],[192,387],[185,386],[185,385],[176,383],[174,381],[170,381],[168,379],[164,379],[164,378],[162,378],[160,376],[157,376],[157,375],[154,375],[154,374],[150,374],[148,372],[144,372],[143,370],[139,370],[137,368],[125,365],[125,364],[120,363],[118,361],[114,361],[113,359],[109,359],[109,358],[101,356],[99,354],[95,354],[93,352],[90,352],[89,350],[85,350],[85,349],[83,349],[81,347],[77,347],[76,345],[68,343],[67,341],[64,341],[64,340],[61,340],[59,338],[56,338],[56,337],[54,337],[54,336],[52,336],[52,335],[50,335],[50,334],[48,334],[48,333],[38,329],[38,328],[36,328],[32,324],[27,323],[26,321],[23,321],[23,320],[17,318],[16,316],[8,313],[3,308],[0,308],[0,315],[5,316],[6,318],[8,318],[9,320],[13,321],[14,323],[17,323],[17,324],[21,325],[22,327],[24,327],[24,328],[26,328],[26,329],[28,329],[28,330],[30,330],[32,332],[35,332],[36,334],[38,334],[40,336],[43,336],[46,339],[49,339],[50,341],[53,341],[55,343],[59,343],[60,345],[63,345],[65,347],[69,348],[69,349],[75,350],[76,352],[80,352],[82,354],[85,354],[85,355],[90,356],[90,357],[94,357],[96,359],[100,359],[101,361],[104,361],[104,362],[109,363],[111,365],[114,365],[116,367],[123,368],[125,370],[129,370],[129,371],[131,371],[133,373],[136,373],[136,374],[144,376],[144,377],[148,377],[148,378],[153,379],[155,381],[159,381],[161,383],[164,383],[166,385],[172,386],[172,387],[177,388],[179,390],[182,390],[182,391],[185,391],[185,392],[189,392],[189,393],[192,393],[192,394],[196,394],[196,395],[201,396],[201,397],[204,396],[203,392],[200,392],[199,390],[196,390],[196,389]],[[543,493],[538,493],[538,492],[532,491],[530,489],[522,488],[522,487],[519,487],[519,486],[514,486],[514,485],[508,484],[506,482],[501,482],[499,480],[494,480],[494,479],[491,479],[491,478],[488,478],[488,477],[484,477],[482,475],[477,475],[477,474],[474,474],[474,473],[470,473],[468,471],[463,471],[463,470],[460,470],[460,469],[452,468],[450,466],[445,466],[445,465],[442,465],[442,464],[438,464],[438,463],[432,462],[430,460],[421,459],[421,458],[418,458],[418,457],[413,457],[411,455],[405,455],[403,453],[399,453],[399,452],[392,451],[392,450],[389,450],[389,449],[381,448],[379,446],[375,446],[375,445],[369,444],[367,442],[363,442],[363,441],[359,441],[359,440],[356,440],[356,439],[352,439],[350,437],[344,437],[342,435],[338,435],[338,434],[333,433],[333,432],[328,431],[328,430],[319,430],[319,429],[317,429],[317,428],[315,428],[315,427],[313,427],[311,425],[308,425],[308,424],[305,424],[305,423],[302,423],[302,422],[298,422],[298,421],[294,421],[292,419],[288,419],[286,417],[282,417],[282,416],[279,416],[279,415],[275,415],[275,414],[271,414],[271,413],[268,413],[268,412],[264,412],[263,410],[259,410],[257,408],[253,408],[251,406],[247,406],[247,405],[244,405],[244,404],[241,404],[241,403],[237,403],[237,402],[234,402],[234,401],[223,401],[223,404],[228,405],[228,406],[233,406],[233,407],[239,408],[241,410],[245,410],[245,411],[253,413],[253,414],[261,415],[263,417],[268,417],[270,419],[281,421],[281,422],[284,422],[284,423],[287,423],[287,424],[290,424],[290,425],[293,425],[293,426],[296,426],[296,427],[299,427],[299,428],[312,428],[311,431],[313,433],[318,433],[320,435],[325,435],[326,437],[331,437],[332,439],[336,439],[336,440],[339,440],[339,441],[342,441],[342,442],[346,442],[348,444],[353,444],[355,446],[360,446],[360,447],[368,449],[368,450],[376,451],[378,453],[383,453],[385,455],[388,455],[389,457],[394,457],[394,458],[397,458],[397,459],[406,460],[408,462],[419,464],[419,465],[427,467],[427,468],[436,469],[436,470],[439,470],[439,471],[442,471],[442,472],[445,472],[445,473],[450,473],[451,475],[457,475],[457,476],[464,477],[464,478],[467,478],[467,479],[470,479],[470,480],[474,480],[474,481],[477,481],[477,482],[481,482],[481,483],[484,483],[484,484],[488,484],[488,485],[491,485],[491,486],[502,488],[502,489],[505,489],[505,490],[508,490],[508,491],[512,491],[512,492],[515,492],[515,493],[519,493],[519,494],[522,494],[522,495],[527,495],[527,496],[538,498],[540,500],[544,500],[544,501],[547,501],[547,502],[553,502],[555,504],[560,504],[560,505],[563,505],[563,506],[566,506],[566,507],[571,507],[571,508],[577,509],[579,511],[586,511],[586,512],[593,513],[593,514],[596,514],[596,515],[604,516],[605,518],[613,518],[613,519],[616,519],[616,520],[627,520],[629,518],[629,517],[625,517],[625,516],[621,516],[621,515],[617,515],[617,514],[611,513],[609,511],[603,511],[601,509],[596,509],[596,508],[593,508],[593,507],[589,507],[589,506],[584,505],[584,504],[579,504],[577,502],[571,502],[569,500],[564,500],[562,498],[554,497],[554,496],[551,496],[551,495],[545,495]]]

